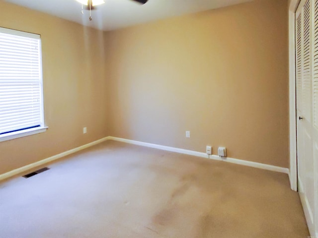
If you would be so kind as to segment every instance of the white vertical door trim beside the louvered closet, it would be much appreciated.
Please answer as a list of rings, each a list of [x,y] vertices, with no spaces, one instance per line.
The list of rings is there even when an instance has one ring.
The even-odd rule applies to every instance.
[[[297,141],[296,141],[296,53],[295,13],[300,0],[289,0],[289,180],[291,189],[297,191]]]

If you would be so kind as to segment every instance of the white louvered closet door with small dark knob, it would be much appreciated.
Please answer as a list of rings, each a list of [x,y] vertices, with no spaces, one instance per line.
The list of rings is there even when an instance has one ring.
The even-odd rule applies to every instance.
[[[296,12],[298,189],[312,236],[318,235],[318,0]]]

